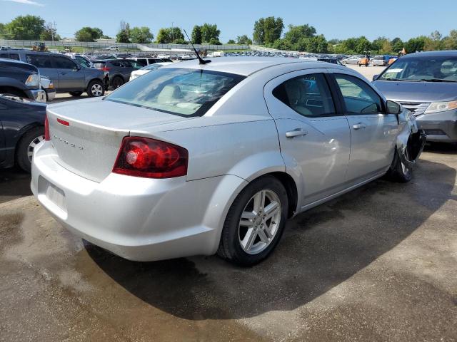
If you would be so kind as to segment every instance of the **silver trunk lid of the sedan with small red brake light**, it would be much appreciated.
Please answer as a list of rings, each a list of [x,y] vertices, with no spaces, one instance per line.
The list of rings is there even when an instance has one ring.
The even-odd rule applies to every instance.
[[[122,139],[131,130],[186,120],[101,98],[50,105],[46,112],[56,162],[95,182],[111,173]]]

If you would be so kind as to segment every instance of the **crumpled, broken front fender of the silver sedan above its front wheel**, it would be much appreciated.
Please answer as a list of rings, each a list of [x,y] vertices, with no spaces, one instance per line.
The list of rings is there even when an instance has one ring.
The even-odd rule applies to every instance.
[[[421,156],[427,136],[423,130],[418,129],[413,113],[405,108],[398,115],[398,125],[400,130],[396,143],[398,156],[406,167],[411,168]]]

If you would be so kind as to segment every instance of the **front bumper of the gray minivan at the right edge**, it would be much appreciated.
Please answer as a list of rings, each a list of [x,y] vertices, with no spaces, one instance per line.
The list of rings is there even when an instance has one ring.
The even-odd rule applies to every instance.
[[[416,120],[418,128],[425,131],[427,141],[457,142],[457,110],[423,114]]]

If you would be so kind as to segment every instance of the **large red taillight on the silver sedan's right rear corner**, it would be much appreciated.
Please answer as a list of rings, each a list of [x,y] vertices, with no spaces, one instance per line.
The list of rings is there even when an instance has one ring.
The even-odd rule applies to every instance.
[[[146,178],[172,178],[187,175],[189,152],[160,140],[125,137],[113,172]]]

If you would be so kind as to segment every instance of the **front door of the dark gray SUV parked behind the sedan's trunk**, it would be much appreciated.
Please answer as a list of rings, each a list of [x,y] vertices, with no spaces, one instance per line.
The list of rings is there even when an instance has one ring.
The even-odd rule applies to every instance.
[[[84,69],[70,58],[51,56],[51,63],[59,75],[59,91],[84,90]]]

